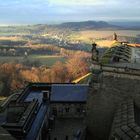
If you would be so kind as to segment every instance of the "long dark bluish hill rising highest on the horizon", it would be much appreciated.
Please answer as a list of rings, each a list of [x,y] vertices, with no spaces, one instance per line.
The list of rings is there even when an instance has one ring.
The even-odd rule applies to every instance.
[[[71,30],[92,30],[92,29],[120,29],[120,26],[109,24],[105,21],[82,21],[82,22],[66,22],[51,27],[59,29]]]

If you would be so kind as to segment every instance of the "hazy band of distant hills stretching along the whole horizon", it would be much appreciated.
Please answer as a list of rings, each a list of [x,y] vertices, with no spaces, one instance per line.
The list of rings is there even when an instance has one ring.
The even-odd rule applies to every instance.
[[[127,23],[126,23],[127,24]],[[32,35],[32,34],[54,34],[60,35],[73,33],[73,31],[115,31],[115,30],[140,30],[140,26],[125,26],[118,23],[105,21],[81,21],[81,22],[65,22],[61,24],[36,24],[25,26],[5,26],[0,27],[0,35]],[[139,36],[138,36],[139,37]]]

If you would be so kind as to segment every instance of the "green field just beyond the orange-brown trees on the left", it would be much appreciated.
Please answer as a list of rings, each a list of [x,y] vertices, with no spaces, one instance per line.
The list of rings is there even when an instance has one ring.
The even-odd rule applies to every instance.
[[[26,60],[29,60],[30,62],[38,61],[41,65],[47,65],[51,67],[53,64],[55,64],[57,61],[60,61],[64,63],[66,61],[66,58],[61,56],[49,56],[49,55],[31,55],[28,58],[24,58],[22,56],[0,56],[0,63],[12,63],[12,62],[19,62],[22,63]]]

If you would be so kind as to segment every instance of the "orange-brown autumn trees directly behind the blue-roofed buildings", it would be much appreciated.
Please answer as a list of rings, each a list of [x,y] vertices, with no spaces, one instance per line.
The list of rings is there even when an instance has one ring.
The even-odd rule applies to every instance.
[[[56,62],[51,68],[24,64],[0,64],[0,95],[9,96],[28,82],[68,83],[89,71],[89,56],[84,53],[69,57],[66,63]]]

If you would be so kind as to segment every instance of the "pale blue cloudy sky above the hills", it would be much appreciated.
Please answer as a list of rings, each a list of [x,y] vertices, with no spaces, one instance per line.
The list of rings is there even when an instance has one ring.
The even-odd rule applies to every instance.
[[[140,0],[0,0],[0,24],[140,21]]]

